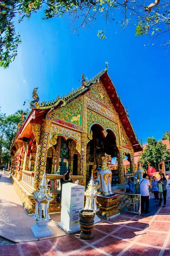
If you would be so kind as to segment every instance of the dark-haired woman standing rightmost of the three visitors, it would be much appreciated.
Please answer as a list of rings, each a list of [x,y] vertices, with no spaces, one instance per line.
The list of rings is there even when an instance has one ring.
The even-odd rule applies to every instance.
[[[158,181],[160,198],[159,198],[159,204],[157,204],[157,206],[161,206],[161,201],[163,196],[164,204],[162,207],[164,208],[167,202],[167,179],[165,178],[164,173],[161,173],[160,177],[161,179]]]

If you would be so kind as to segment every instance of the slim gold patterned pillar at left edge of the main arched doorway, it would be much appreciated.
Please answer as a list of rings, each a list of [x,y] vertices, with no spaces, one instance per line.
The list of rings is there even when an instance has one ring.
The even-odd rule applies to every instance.
[[[86,154],[87,154],[87,134],[85,132],[82,133],[82,143],[81,143],[81,155],[80,155],[80,172],[83,176],[83,180],[81,181],[81,185],[86,185]]]

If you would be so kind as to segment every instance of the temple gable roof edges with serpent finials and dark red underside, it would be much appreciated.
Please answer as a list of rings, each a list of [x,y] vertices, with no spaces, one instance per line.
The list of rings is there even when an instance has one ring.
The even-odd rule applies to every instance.
[[[70,93],[67,93],[63,96],[57,96],[56,99],[48,101],[48,102],[42,102],[39,103],[40,99],[37,95],[37,89],[35,88],[33,91],[33,101],[30,103],[30,106],[32,108],[32,111],[30,113],[30,115],[28,116],[27,120],[25,121],[25,123],[23,124],[23,127],[20,129],[20,131],[18,132],[18,134],[21,135],[21,133],[23,133],[24,131],[24,126],[26,127],[26,125],[28,125],[28,123],[30,122],[30,118],[34,112],[35,116],[39,116],[40,113],[41,116],[43,115],[43,113],[47,113],[47,111],[49,111],[49,109],[52,108],[56,108],[56,107],[63,107],[65,105],[68,104],[68,102],[70,102],[71,100],[77,98],[79,95],[85,93],[85,91],[89,90],[91,85],[95,84],[96,82],[102,81],[103,86],[105,87],[105,90],[107,91],[111,102],[116,110],[116,112],[119,114],[119,118],[122,122],[122,125],[126,131],[127,136],[130,139],[130,142],[133,145],[133,149],[134,151],[141,151],[142,150],[142,145],[139,143],[139,140],[136,136],[136,133],[133,129],[133,126],[130,122],[129,119],[129,114],[127,112],[127,110],[125,110],[125,107],[119,97],[119,94],[117,93],[117,90],[107,72],[107,69],[102,70],[101,72],[99,72],[96,76],[94,76],[94,78],[90,79],[90,80],[85,80],[84,75],[82,75],[82,81],[81,81],[81,86],[78,87],[76,90],[72,90]],[[32,122],[32,120],[31,120]],[[33,121],[34,122],[34,121]],[[17,134],[17,135],[18,135]],[[16,136],[18,137],[18,136]],[[21,136],[19,136],[21,138]],[[18,137],[18,138],[19,138]]]

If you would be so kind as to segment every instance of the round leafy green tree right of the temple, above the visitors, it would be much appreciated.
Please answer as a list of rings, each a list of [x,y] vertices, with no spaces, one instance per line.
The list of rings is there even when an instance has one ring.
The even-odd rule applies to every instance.
[[[151,166],[158,169],[158,164],[169,157],[169,151],[167,145],[164,145],[161,141],[156,141],[155,138],[148,138],[147,145],[141,154],[141,160],[143,164],[150,162]]]

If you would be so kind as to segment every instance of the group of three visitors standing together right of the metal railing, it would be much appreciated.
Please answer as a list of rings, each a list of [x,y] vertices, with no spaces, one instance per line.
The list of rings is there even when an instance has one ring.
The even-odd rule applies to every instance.
[[[156,206],[161,206],[162,198],[164,198],[164,203],[162,207],[166,206],[167,198],[167,179],[164,173],[160,174],[160,180],[157,180],[155,176],[152,177],[152,191],[155,197],[155,201],[158,203]],[[141,194],[141,212],[149,212],[149,189],[151,188],[151,183],[149,181],[149,176],[144,173],[143,178],[140,180],[140,194]]]

